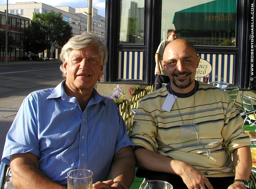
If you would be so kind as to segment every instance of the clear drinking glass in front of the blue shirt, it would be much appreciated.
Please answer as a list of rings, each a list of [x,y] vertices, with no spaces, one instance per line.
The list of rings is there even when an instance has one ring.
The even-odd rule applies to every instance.
[[[68,189],[92,189],[92,171],[75,169],[68,172]]]

